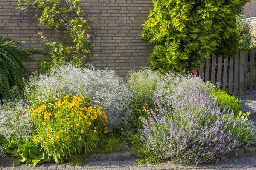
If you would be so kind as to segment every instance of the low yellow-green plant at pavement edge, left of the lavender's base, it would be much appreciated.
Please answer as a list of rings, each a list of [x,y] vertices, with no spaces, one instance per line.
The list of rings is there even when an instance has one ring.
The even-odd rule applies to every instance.
[[[156,154],[146,149],[143,143],[134,144],[132,152],[138,157],[138,163],[159,164],[160,162],[163,162],[163,160],[159,159]]]

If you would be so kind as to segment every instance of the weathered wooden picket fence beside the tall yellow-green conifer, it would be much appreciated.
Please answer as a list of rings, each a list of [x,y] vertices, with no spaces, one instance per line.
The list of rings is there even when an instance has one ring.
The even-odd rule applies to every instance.
[[[212,56],[200,68],[199,74],[204,73],[205,82],[220,82],[222,88],[242,96],[248,90],[256,90],[255,61],[254,48],[241,50],[235,57]]]

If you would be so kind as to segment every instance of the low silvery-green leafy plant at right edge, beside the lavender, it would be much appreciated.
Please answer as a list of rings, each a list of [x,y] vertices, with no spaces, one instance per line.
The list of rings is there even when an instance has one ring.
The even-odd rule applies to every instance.
[[[233,128],[232,134],[239,142],[238,147],[253,149],[256,146],[256,127],[248,119],[250,114],[250,112],[242,113],[240,111],[237,117],[233,117],[236,126]]]

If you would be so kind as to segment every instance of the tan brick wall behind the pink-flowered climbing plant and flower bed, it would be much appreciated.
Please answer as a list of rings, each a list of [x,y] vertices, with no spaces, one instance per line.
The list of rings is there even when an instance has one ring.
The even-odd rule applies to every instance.
[[[94,20],[93,30],[97,36],[93,40],[91,63],[98,69],[115,69],[124,77],[131,69],[148,66],[148,58],[153,45],[148,45],[141,38],[143,21],[152,8],[151,0],[80,0]],[[48,51],[38,36],[42,31],[46,37],[56,34],[52,29],[37,26],[35,12],[20,12],[15,9],[17,0],[0,0],[0,37],[9,37],[23,41],[24,48]],[[98,30],[96,30],[99,28]],[[60,40],[57,32],[55,40]],[[36,62],[40,54],[33,55],[32,61],[26,62],[29,71],[38,68]]]

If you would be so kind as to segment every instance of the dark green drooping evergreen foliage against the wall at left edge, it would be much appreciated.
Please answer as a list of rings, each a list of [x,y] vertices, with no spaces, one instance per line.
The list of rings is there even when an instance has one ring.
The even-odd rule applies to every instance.
[[[31,54],[15,46],[20,43],[7,38],[0,38],[0,99],[7,96],[8,91],[15,85],[20,89],[24,74],[23,61]]]

